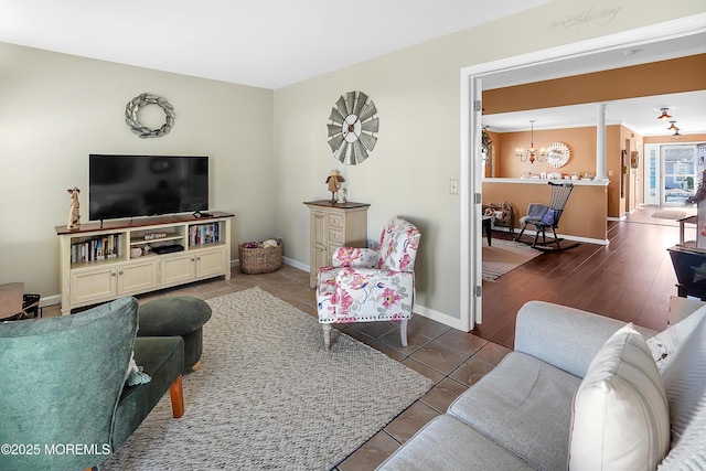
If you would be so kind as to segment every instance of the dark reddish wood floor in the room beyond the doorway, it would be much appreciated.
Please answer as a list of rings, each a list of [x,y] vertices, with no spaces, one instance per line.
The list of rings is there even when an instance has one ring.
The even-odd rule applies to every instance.
[[[610,222],[607,246],[580,244],[545,253],[496,282],[483,281],[483,323],[473,333],[512,347],[515,314],[530,300],[665,329],[670,296],[676,296],[676,276],[666,249],[678,243],[680,229],[674,221],[651,217],[652,212],[641,208],[628,221]],[[493,236],[509,238],[504,233]]]

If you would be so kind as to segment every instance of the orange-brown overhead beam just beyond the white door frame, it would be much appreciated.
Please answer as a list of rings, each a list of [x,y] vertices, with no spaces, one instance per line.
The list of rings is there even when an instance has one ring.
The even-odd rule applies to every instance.
[[[706,54],[483,90],[483,114],[518,111],[706,88]]]

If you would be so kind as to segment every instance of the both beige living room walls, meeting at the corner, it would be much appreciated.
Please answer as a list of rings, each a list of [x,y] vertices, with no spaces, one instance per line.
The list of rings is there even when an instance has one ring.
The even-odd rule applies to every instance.
[[[616,14],[567,21],[587,9]],[[53,227],[66,218],[65,190],[87,183],[88,153],[207,153],[212,206],[238,215],[234,240],[281,236],[301,266],[301,203],[328,196],[325,176],[341,170],[350,199],[372,204],[368,238],[393,215],[419,225],[418,303],[458,319],[460,202],[448,189],[460,168],[460,68],[704,10],[703,0],[558,0],[275,92],[0,44],[0,282],[58,292]],[[357,167],[340,164],[327,143],[331,106],[349,90],[367,93],[381,119],[377,147]],[[142,92],[174,105],[167,137],[141,140],[125,125],[125,104]]]

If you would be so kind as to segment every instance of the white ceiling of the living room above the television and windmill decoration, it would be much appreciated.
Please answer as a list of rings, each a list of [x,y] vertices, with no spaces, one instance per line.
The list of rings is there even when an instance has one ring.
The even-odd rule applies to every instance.
[[[548,1],[0,0],[0,42],[279,88]]]

